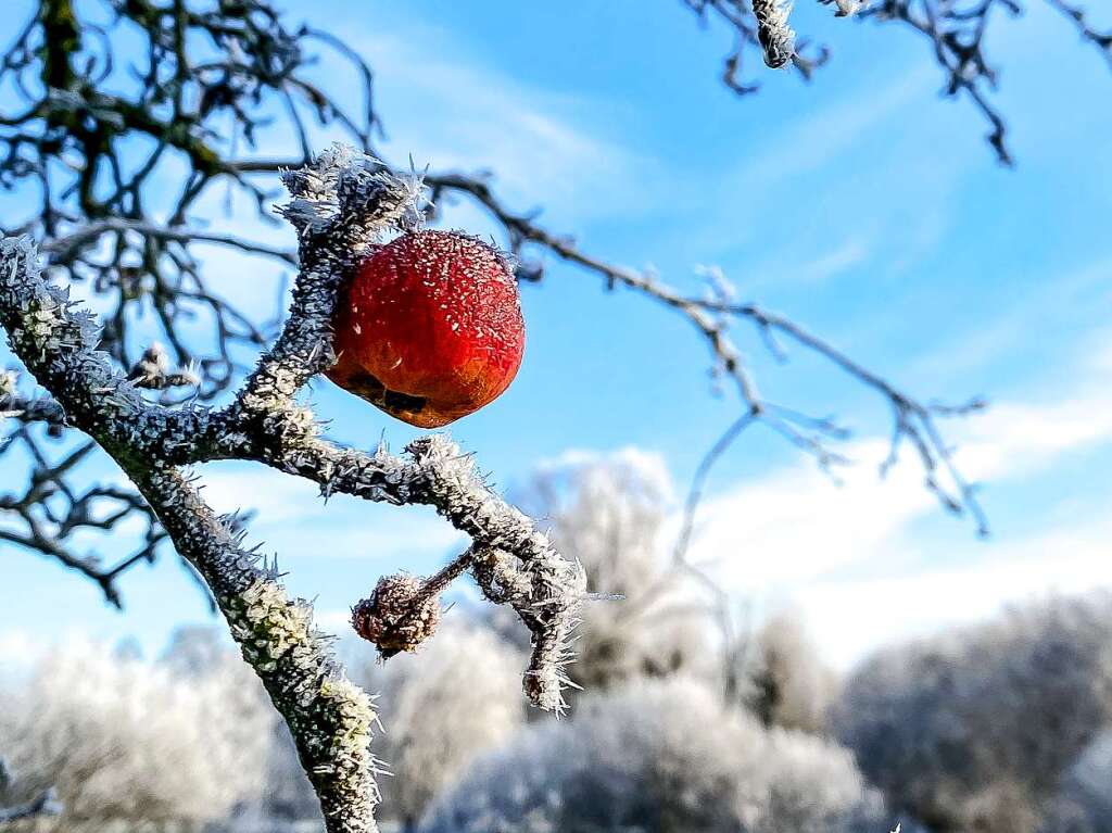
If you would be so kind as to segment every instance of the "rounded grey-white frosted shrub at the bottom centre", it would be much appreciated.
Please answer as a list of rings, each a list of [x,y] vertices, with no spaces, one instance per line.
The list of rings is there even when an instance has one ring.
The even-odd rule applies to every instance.
[[[701,683],[641,681],[533,724],[429,810],[421,833],[891,830],[850,753],[765,730]]]

